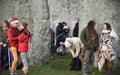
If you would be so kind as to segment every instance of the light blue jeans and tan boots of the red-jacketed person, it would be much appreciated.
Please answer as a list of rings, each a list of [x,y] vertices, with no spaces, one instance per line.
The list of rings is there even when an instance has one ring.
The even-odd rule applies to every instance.
[[[21,60],[22,60],[22,63],[23,63],[22,71],[23,71],[24,73],[27,73],[27,72],[28,72],[27,53],[26,53],[26,52],[21,52],[21,53],[20,53],[20,56],[21,56]]]

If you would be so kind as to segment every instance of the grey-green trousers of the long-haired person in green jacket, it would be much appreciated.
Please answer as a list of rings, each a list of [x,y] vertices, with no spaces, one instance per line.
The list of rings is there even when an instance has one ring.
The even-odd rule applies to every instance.
[[[82,73],[92,73],[93,71],[93,61],[94,52],[92,50],[85,50],[85,55],[83,58]]]

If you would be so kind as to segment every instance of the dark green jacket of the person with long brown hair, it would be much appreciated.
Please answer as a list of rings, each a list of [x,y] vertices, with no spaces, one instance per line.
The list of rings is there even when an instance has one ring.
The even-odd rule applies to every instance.
[[[96,35],[97,35],[97,37],[95,38],[94,45],[95,45],[96,50],[97,50],[98,46],[99,46],[97,32],[96,32]],[[80,35],[80,39],[81,39],[82,43],[84,44],[84,50],[94,50],[93,45],[90,43],[89,32],[88,32],[87,27],[82,30],[81,35]]]

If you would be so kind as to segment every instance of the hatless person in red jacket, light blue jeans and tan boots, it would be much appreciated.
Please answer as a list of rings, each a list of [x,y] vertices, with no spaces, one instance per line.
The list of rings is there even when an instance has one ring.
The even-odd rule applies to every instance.
[[[27,25],[28,23],[23,22],[20,25],[21,28],[21,34],[18,36],[18,51],[20,52],[20,56],[22,59],[22,63],[23,63],[23,68],[22,68],[22,72],[24,73],[24,75],[27,75],[28,72],[28,61],[27,61],[27,51],[28,51],[28,41],[30,38],[30,32],[27,29]]]

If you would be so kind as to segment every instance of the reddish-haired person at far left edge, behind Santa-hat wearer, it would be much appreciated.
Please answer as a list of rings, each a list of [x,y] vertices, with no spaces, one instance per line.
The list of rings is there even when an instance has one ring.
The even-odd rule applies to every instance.
[[[8,68],[8,40],[7,40],[7,30],[10,24],[7,20],[2,22],[0,27],[0,68]]]

